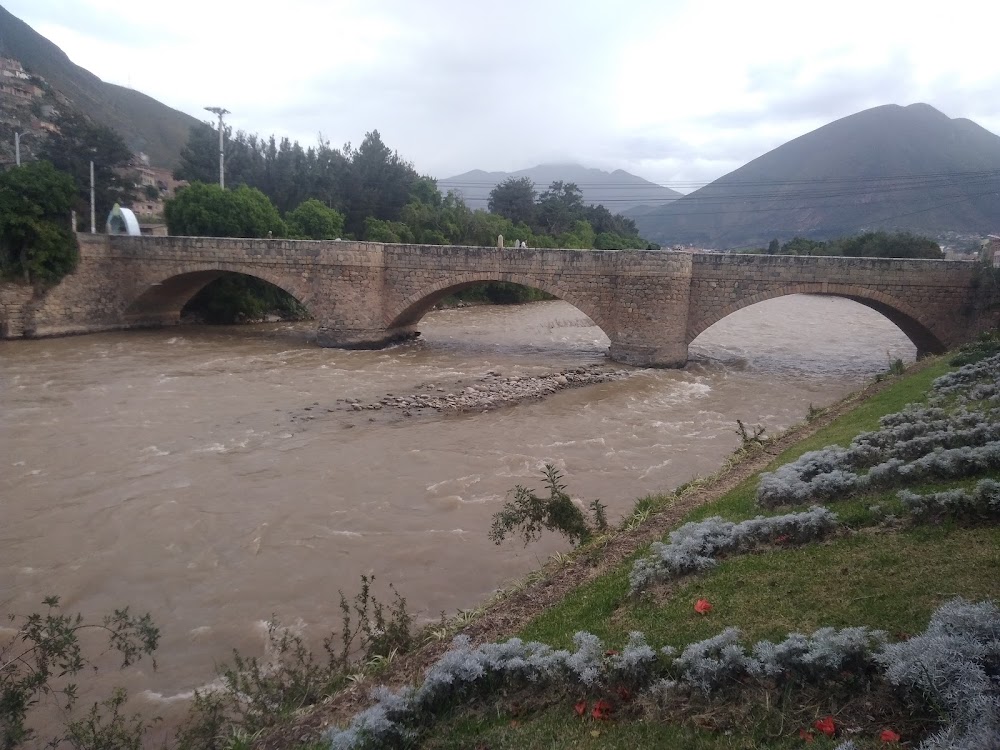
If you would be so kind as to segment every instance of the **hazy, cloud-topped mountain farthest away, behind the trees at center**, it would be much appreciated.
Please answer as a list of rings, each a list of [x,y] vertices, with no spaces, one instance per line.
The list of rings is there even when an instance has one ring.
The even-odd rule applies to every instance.
[[[520,179],[529,177],[539,193],[548,189],[556,180],[575,182],[583,192],[583,199],[591,204],[603,204],[612,213],[622,213],[626,209],[640,205],[662,206],[677,200],[681,193],[670,188],[644,180],[621,169],[605,172],[588,169],[579,164],[540,164],[518,172],[471,172],[438,180],[442,193],[454,190],[462,195],[470,208],[486,208],[490,191],[508,177]]]

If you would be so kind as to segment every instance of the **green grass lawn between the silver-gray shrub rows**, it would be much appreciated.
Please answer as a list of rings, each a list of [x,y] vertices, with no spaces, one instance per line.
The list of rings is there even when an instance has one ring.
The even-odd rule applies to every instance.
[[[878,395],[836,419],[815,435],[778,456],[774,469],[809,450],[847,445],[860,432],[877,429],[879,418],[921,402],[934,378],[950,369],[939,361],[903,376]],[[934,491],[971,486],[981,477],[961,482],[925,482],[912,487]],[[996,478],[996,476],[994,477]],[[761,513],[754,499],[757,476],[702,506],[683,522],[721,515],[739,521]],[[877,524],[873,503],[889,512],[898,509],[896,490],[830,503],[847,527],[833,539],[802,547],[768,548],[721,561],[710,571],[689,576],[640,596],[630,596],[632,560],[571,591],[517,635],[554,647],[571,646],[573,634],[588,631],[608,648],[624,644],[629,631],[642,631],[650,645],[683,647],[716,635],[728,626],[740,628],[746,640],[783,639],[789,632],[818,627],[867,625],[894,639],[922,631],[943,602],[962,596],[1000,599],[1000,529],[957,523],[900,528]],[[770,513],[787,512],[783,508]],[[645,554],[645,551],[640,554]],[[693,605],[708,599],[713,609],[699,615]],[[571,696],[546,696],[530,708],[512,706],[504,696],[488,707],[457,710],[422,744],[425,748],[799,748],[805,743],[795,727],[770,732],[772,724],[749,731],[707,731],[717,726],[689,720],[683,725],[622,718],[599,722],[581,719]],[[638,714],[636,714],[638,716]],[[692,725],[692,723],[694,725]],[[809,726],[806,724],[805,726]],[[880,747],[871,736],[858,746]],[[817,737],[809,747],[834,747]]]

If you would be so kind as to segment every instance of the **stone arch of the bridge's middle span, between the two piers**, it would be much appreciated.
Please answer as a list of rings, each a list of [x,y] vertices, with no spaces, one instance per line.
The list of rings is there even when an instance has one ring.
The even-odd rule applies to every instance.
[[[580,299],[572,292],[566,292],[545,279],[509,272],[464,273],[450,276],[447,279],[441,279],[418,292],[410,294],[398,304],[389,308],[385,316],[386,328],[390,331],[410,328],[416,325],[434,305],[448,295],[476,284],[485,284],[488,282],[520,284],[521,286],[539,289],[546,294],[551,294],[553,297],[557,297],[573,305],[573,307],[590,318],[594,322],[594,325],[600,328],[608,338],[614,338],[615,329],[612,325],[611,317],[592,300]]]

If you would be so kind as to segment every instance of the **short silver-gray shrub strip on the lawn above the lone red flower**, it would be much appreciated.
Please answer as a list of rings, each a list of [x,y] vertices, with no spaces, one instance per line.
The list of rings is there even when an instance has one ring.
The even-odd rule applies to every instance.
[[[781,516],[757,516],[739,523],[719,516],[692,521],[670,532],[669,544],[654,542],[650,555],[633,564],[629,584],[632,593],[637,593],[654,583],[711,568],[716,564],[715,558],[723,554],[746,552],[779,537],[796,544],[808,542],[827,536],[836,528],[836,514],[819,506]]]

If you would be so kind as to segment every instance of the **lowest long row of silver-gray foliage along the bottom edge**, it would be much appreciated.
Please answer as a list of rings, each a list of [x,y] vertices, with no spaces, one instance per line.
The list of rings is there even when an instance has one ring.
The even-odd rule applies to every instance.
[[[459,636],[427,669],[419,687],[377,688],[370,708],[355,715],[348,727],[330,730],[327,737],[333,750],[414,746],[438,716],[491,694],[519,692],[524,696],[530,694],[527,691],[544,691],[566,696],[582,688],[600,696],[591,716],[606,720],[616,704],[628,702],[634,691],[643,691],[655,701],[674,695],[690,700],[696,692],[706,697],[723,690],[750,693],[774,682],[823,690],[849,683],[854,691],[870,685],[884,670],[895,685],[943,694],[949,722],[939,737],[961,743],[949,747],[972,750],[987,746],[975,742],[996,736],[991,733],[1000,719],[998,686],[991,682],[1000,666],[998,622],[992,603],[969,605],[954,600],[935,613],[923,636],[896,646],[885,645],[885,633],[852,627],[820,628],[809,635],[791,633],[779,643],[761,641],[748,649],[738,629],[726,628],[689,644],[676,658],[671,648],[654,651],[641,632],[630,633],[621,652],[605,650],[599,638],[584,631],[573,636],[572,652],[518,638],[473,648],[467,637]],[[942,636],[954,643],[942,643]],[[935,661],[929,669],[922,669],[927,653]],[[948,655],[955,653],[960,658],[949,663]],[[573,712],[584,716],[587,708],[586,700],[578,701]],[[833,736],[837,723],[827,716],[812,726]],[[811,733],[800,734],[812,739]],[[883,731],[881,736],[890,735],[895,733]],[[943,746],[935,740],[926,745]]]

